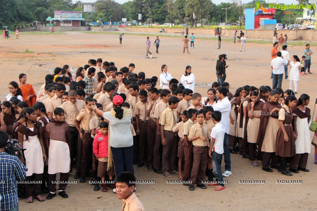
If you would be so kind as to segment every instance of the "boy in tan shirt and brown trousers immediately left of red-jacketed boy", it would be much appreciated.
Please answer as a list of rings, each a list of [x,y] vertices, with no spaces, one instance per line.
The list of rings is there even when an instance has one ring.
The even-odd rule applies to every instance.
[[[80,136],[80,139],[78,139],[77,162],[81,162],[81,166],[80,166],[81,177],[79,180],[79,182],[81,183],[84,183],[86,181],[85,176],[88,171],[87,166],[88,166],[89,156],[92,156],[89,153],[91,151],[90,149],[92,149],[92,144],[93,144],[89,122],[95,116],[94,110],[91,107],[92,105],[94,105],[94,99],[91,97],[87,97],[85,101],[85,106],[87,109],[82,110],[74,120],[74,124]],[[80,126],[78,122],[80,122]],[[77,165],[77,171],[79,171],[78,165]]]

